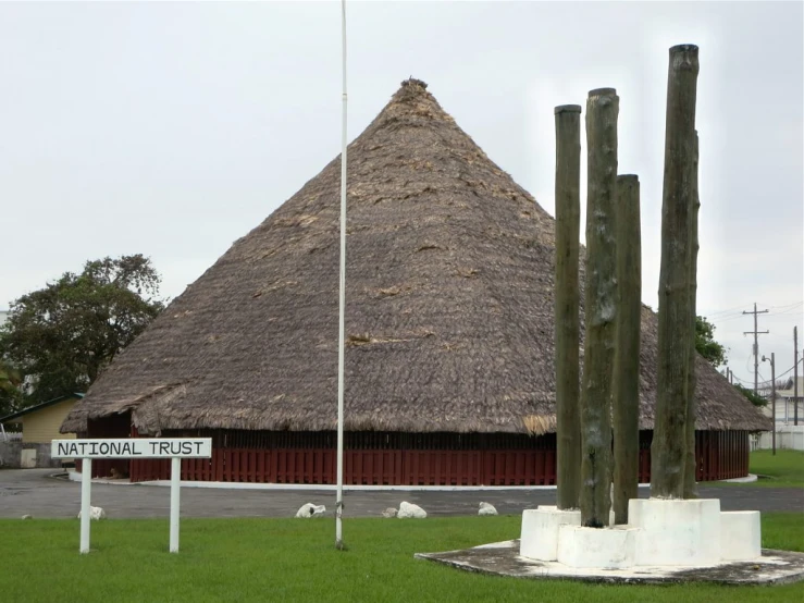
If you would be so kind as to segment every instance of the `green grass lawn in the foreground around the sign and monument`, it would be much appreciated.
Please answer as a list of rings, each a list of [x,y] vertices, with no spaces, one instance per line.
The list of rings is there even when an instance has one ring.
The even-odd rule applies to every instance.
[[[92,522],[78,554],[77,519],[0,520],[0,600],[119,601],[804,601],[804,584],[660,587],[584,584],[481,576],[413,558],[518,538],[520,516],[345,519],[185,519],[170,554],[168,521]],[[804,515],[763,516],[763,545],[804,551]]]

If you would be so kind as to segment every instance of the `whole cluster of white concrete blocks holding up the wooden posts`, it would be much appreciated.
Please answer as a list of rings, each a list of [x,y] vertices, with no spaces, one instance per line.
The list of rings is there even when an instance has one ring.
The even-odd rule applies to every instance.
[[[758,512],[721,513],[717,499],[629,501],[629,525],[581,527],[580,510],[522,514],[519,554],[578,569],[705,568],[762,555]]]

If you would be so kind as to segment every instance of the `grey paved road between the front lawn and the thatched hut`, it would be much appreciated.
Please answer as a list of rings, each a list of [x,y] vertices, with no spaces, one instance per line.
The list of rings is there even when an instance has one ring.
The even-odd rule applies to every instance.
[[[0,470],[0,517],[75,517],[81,507],[81,484],[51,477],[54,469]],[[646,497],[648,489],[640,488]],[[702,485],[704,499],[720,499],[723,510],[804,512],[804,490],[743,485]],[[475,515],[481,501],[500,514],[520,514],[540,504],[555,504],[554,490],[486,491],[347,491],[347,517],[379,517],[401,501],[421,505],[429,515]],[[332,490],[182,489],[183,517],[290,517],[304,503],[334,508]],[[110,518],[168,517],[170,488],[159,485],[92,483],[92,504]]]

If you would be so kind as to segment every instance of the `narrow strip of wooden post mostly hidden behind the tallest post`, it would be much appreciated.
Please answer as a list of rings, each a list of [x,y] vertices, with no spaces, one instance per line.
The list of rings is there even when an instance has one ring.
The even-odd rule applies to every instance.
[[[695,132],[694,152],[692,158],[692,187],[690,208],[690,316],[692,318],[692,333],[690,336],[690,360],[687,372],[687,459],[684,462],[684,499],[697,499],[695,478],[697,477],[697,465],[695,463],[695,416],[697,415],[697,401],[695,399],[695,361],[697,350],[695,349],[695,313],[697,297],[697,217],[701,209],[701,199],[697,188],[698,175],[698,137]]]

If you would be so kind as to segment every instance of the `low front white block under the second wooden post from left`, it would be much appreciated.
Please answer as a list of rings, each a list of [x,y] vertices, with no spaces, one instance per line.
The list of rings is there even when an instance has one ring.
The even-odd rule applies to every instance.
[[[610,529],[561,526],[558,563],[570,567],[621,569],[635,565],[636,534],[626,526]]]

